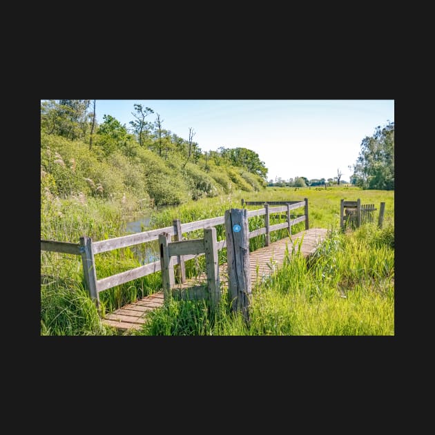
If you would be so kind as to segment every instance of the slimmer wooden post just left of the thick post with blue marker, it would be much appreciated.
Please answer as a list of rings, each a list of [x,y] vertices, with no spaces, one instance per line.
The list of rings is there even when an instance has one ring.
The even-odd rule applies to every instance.
[[[204,228],[204,249],[206,260],[207,287],[211,306],[218,307],[220,301],[218,242],[214,226]]]

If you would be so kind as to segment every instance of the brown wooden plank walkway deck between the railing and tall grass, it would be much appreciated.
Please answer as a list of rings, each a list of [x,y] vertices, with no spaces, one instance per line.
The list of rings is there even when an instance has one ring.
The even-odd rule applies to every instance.
[[[293,234],[289,238],[278,240],[269,244],[268,247],[260,248],[249,254],[251,266],[251,287],[255,287],[262,282],[264,278],[270,276],[271,273],[276,271],[284,262],[284,255],[286,245],[289,250],[289,257],[291,258],[292,248],[298,251],[298,244],[302,240],[300,247],[301,254],[306,258],[316,251],[320,242],[325,240],[327,236],[327,229],[312,228],[300,233]],[[303,236],[303,239],[302,239]],[[226,273],[226,264],[220,266],[220,282],[221,290],[225,291],[228,287],[228,275]],[[184,284],[179,284],[175,289],[192,289],[206,284],[206,275],[203,273],[197,278],[186,280]],[[158,291],[150,296],[133,302],[132,304],[124,305],[113,313],[106,314],[102,320],[105,325],[116,327],[120,331],[129,331],[131,329],[140,329],[146,322],[146,314],[155,309],[162,307],[164,303],[163,291]]]

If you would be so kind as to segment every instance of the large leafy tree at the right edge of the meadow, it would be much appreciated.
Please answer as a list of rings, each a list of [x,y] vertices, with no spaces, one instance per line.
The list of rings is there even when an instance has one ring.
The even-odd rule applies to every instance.
[[[394,122],[363,139],[351,180],[363,189],[394,189]]]

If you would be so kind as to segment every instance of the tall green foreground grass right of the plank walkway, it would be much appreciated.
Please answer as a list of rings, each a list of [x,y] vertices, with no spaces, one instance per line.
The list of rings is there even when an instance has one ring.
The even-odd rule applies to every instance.
[[[253,289],[249,322],[231,313],[226,294],[216,312],[204,300],[173,299],[136,334],[392,336],[394,249],[379,244],[389,231],[331,232],[309,261],[296,249]]]

